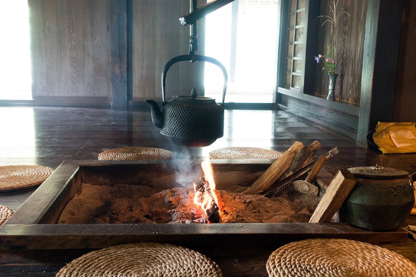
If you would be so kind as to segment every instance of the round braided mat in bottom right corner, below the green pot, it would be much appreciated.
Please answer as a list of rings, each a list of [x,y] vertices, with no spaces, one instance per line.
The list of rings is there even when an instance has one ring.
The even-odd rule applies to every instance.
[[[396,252],[345,239],[291,242],[270,255],[266,268],[270,277],[416,276],[416,265]]]

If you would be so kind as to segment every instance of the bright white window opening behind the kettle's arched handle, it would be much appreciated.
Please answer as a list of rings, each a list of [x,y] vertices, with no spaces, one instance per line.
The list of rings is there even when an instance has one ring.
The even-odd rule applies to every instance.
[[[237,4],[238,12],[233,9]],[[276,0],[239,0],[206,16],[205,54],[222,62],[228,72],[225,102],[272,103],[278,8]],[[205,95],[220,102],[222,84],[220,69],[205,63]]]

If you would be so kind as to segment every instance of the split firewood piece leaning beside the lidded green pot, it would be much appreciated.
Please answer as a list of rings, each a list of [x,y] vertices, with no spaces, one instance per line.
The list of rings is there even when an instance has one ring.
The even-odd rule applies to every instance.
[[[331,222],[332,217],[341,207],[357,180],[348,169],[341,169],[329,184],[309,222]]]

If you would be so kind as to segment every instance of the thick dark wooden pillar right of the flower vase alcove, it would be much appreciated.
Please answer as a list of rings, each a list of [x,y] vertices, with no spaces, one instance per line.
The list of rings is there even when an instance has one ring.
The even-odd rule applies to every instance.
[[[378,121],[392,121],[403,0],[369,0],[357,143]]]

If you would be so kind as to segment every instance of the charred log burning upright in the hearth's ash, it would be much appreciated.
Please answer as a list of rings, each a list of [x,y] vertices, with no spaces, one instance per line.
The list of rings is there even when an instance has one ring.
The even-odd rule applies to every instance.
[[[213,192],[210,188],[210,184],[205,177],[199,179],[198,185],[194,183],[195,188],[195,197],[193,201],[196,204],[201,205],[206,215],[208,216],[208,221],[211,223],[220,222],[220,213],[218,210],[218,205],[215,202]]]

